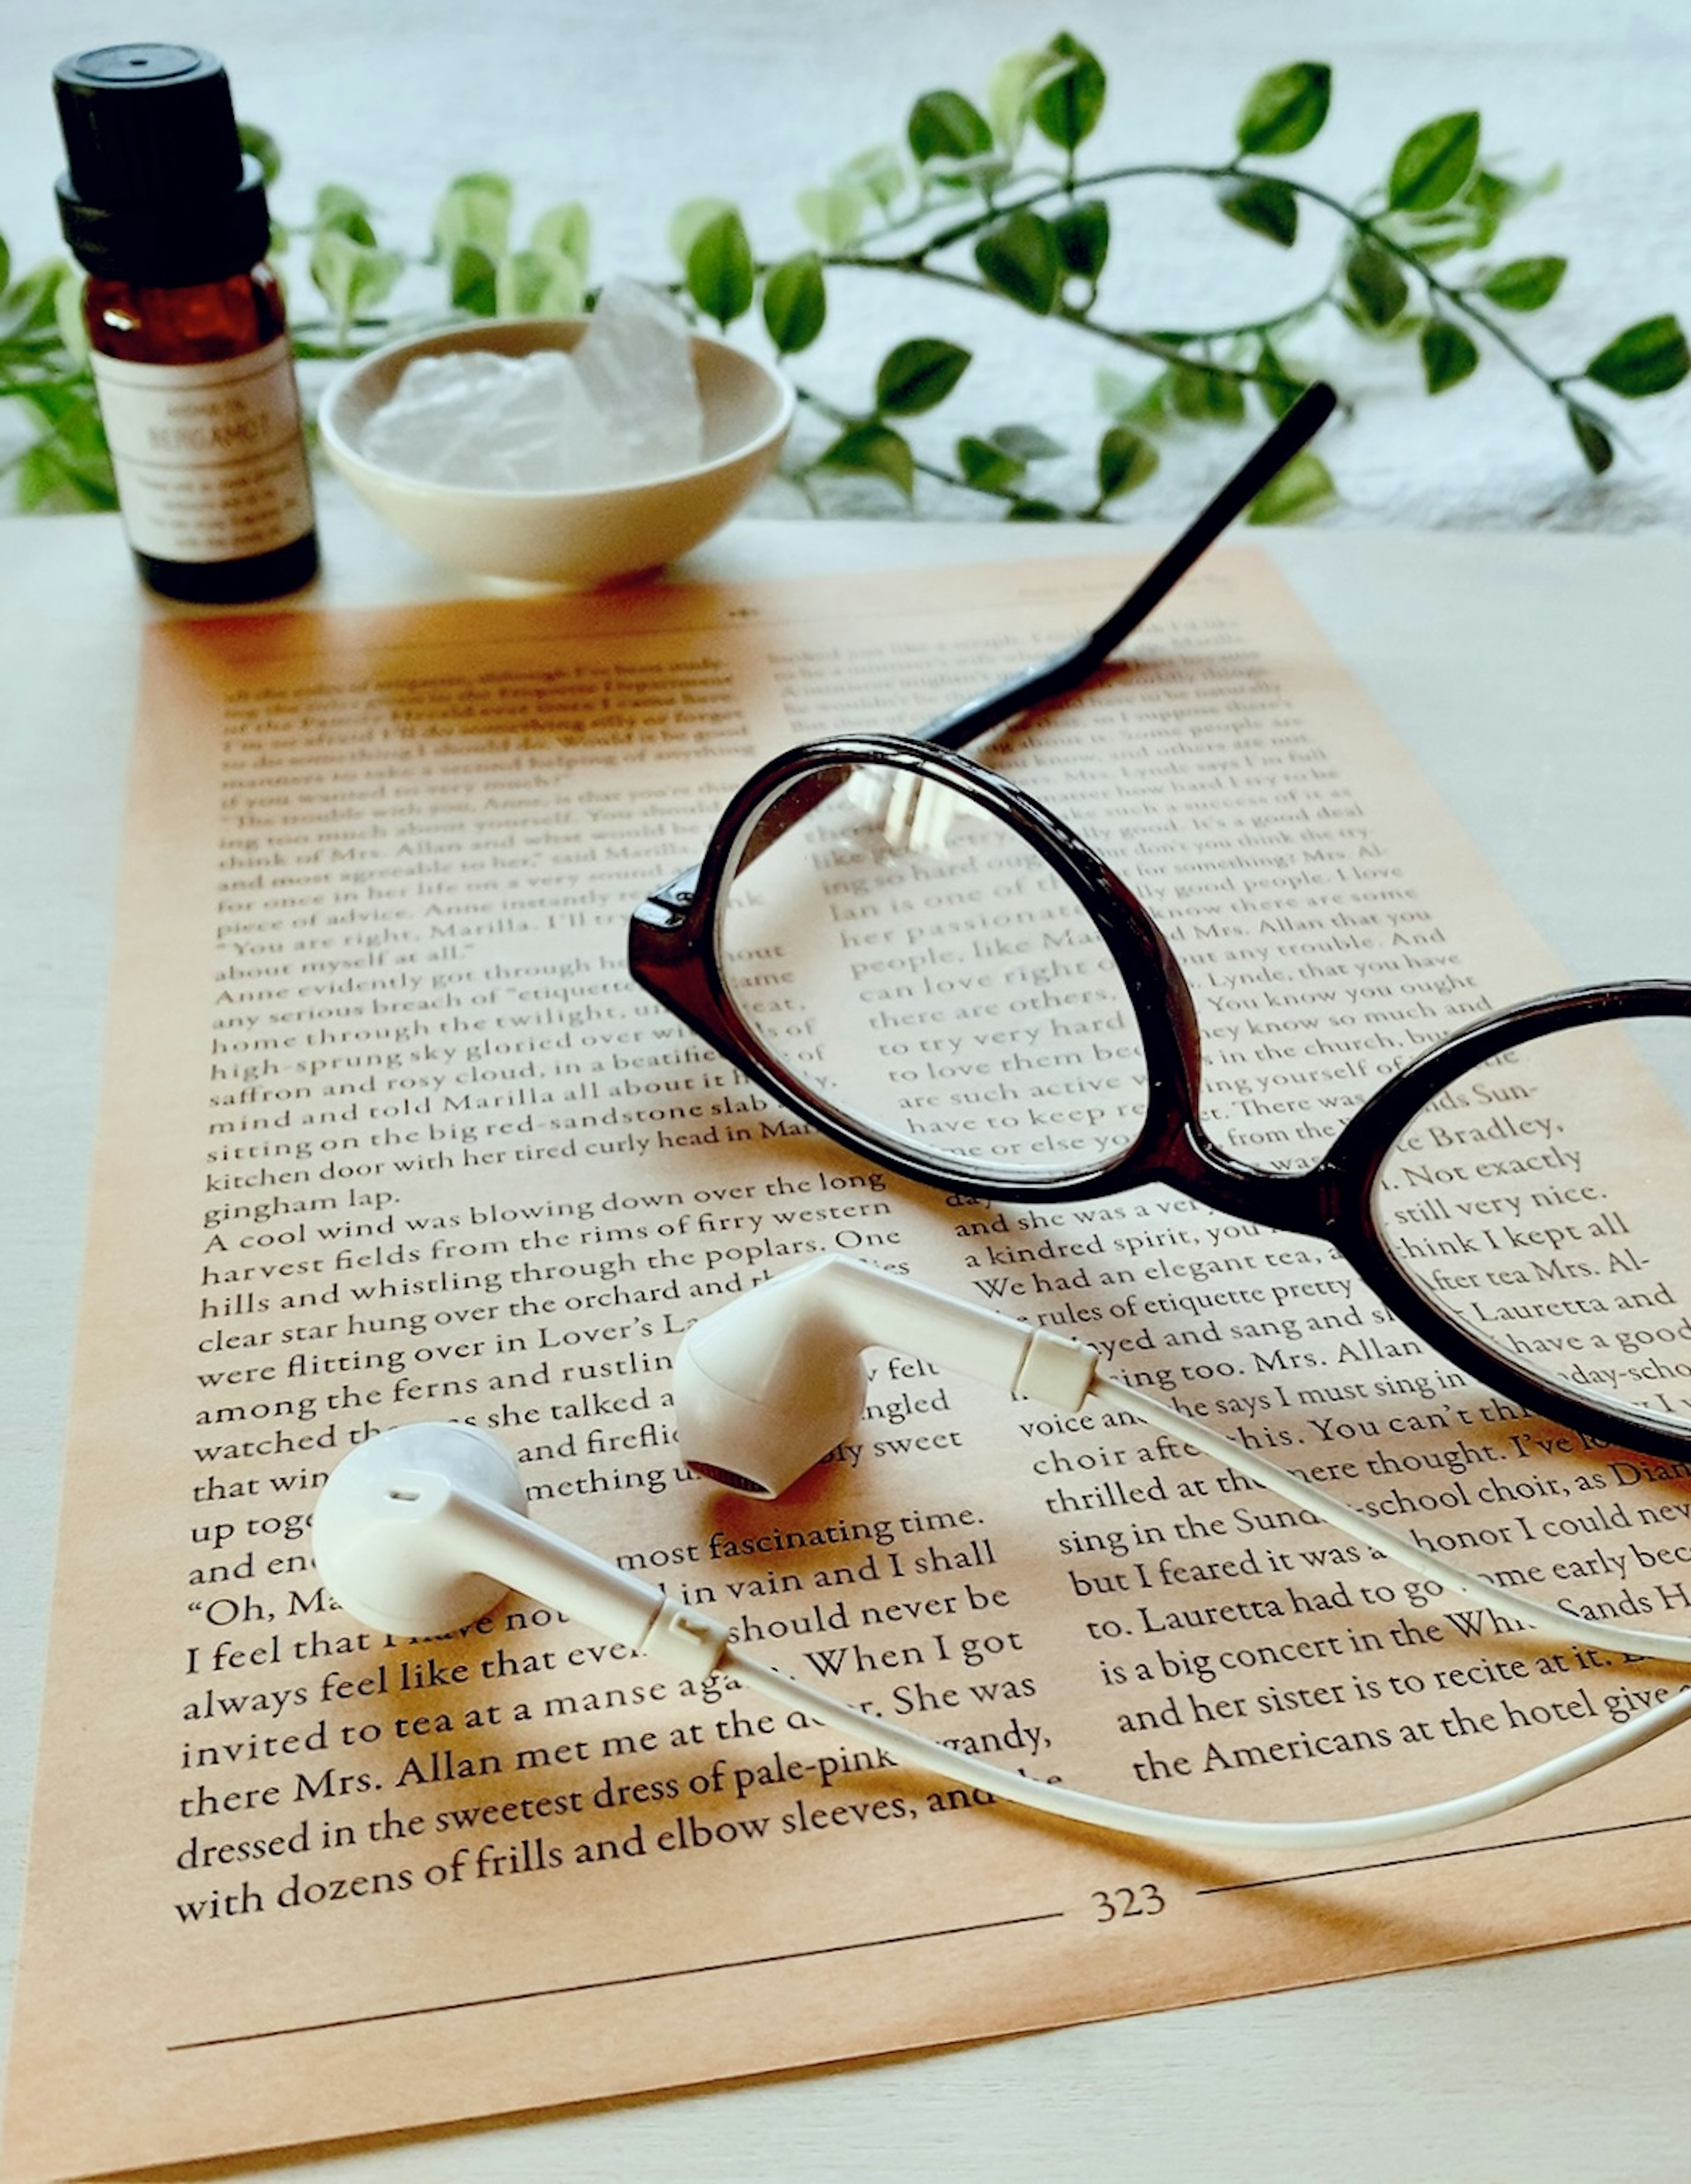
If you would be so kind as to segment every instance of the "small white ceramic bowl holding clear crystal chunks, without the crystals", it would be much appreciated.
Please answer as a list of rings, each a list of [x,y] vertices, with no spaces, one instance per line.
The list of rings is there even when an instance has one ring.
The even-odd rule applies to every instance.
[[[364,419],[399,384],[412,356],[449,349],[574,349],[587,319],[476,319],[441,334],[395,341],[362,356],[325,391],[323,448],[340,476],[412,546],[449,568],[537,583],[611,583],[698,546],[775,467],[792,424],[792,389],[768,365],[694,334],[705,406],[705,461],[639,485],[517,491],[408,478],[360,454]]]

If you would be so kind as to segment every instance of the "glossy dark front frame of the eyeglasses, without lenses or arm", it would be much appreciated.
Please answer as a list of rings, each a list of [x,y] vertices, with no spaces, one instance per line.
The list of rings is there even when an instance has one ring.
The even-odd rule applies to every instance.
[[[814,810],[840,769],[890,767],[951,788],[1012,828],[1067,882],[1091,917],[1126,987],[1143,1048],[1146,1120],[1119,1153],[1056,1177],[1034,1177],[993,1162],[932,1160],[906,1138],[868,1129],[794,1077],[746,1024],[722,981],[716,933],[722,885],[759,845]],[[803,795],[805,775],[827,775]],[[792,808],[772,826],[770,804],[788,786]],[[1198,1099],[1202,1042],[1187,978],[1156,919],[1132,889],[1063,819],[1028,791],[975,760],[932,743],[897,736],[829,736],[799,745],[761,767],[735,793],[711,834],[696,874],[683,874],[648,895],[628,926],[628,970],[637,985],[679,1016],[727,1061],[823,1136],[912,1182],[1023,1206],[1108,1197],[1141,1184],[1172,1184],[1213,1212],[1261,1227],[1314,1236],[1333,1245],[1407,1328],[1497,1393],[1595,1441],[1621,1439],[1643,1455],[1682,1459],[1691,1420],[1656,1420],[1634,1406],[1586,1402],[1564,1385],[1477,1343],[1396,1265],[1375,1219],[1375,1179],[1410,1120],[1458,1077],[1512,1046],[1580,1024],[1634,1016],[1691,1016],[1691,983],[1628,981],[1575,987],[1516,1002],[1464,1024],[1372,1092],[1327,1153],[1305,1173],[1255,1168],[1226,1153],[1204,1131]]]

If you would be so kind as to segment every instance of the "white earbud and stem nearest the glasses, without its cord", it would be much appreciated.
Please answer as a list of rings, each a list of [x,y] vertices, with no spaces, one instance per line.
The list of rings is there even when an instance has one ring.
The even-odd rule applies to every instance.
[[[1078,1411],[1098,1352],[855,1258],[812,1258],[696,1319],[674,1361],[681,1457],[740,1494],[783,1494],[858,1424],[864,1350],[901,1350]]]

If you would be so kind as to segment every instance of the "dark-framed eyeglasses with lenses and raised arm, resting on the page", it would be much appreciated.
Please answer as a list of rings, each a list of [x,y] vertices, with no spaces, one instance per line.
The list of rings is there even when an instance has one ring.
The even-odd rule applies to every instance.
[[[1028,1206],[1165,1184],[1318,1238],[1460,1372],[1595,1444],[1687,1457],[1691,1147],[1656,1070],[1691,1083],[1691,985],[1591,987],[1484,1016],[1375,1090],[1311,1168],[1257,1166],[1204,1129],[1191,989],[1150,911],[1004,769],[947,749],[1050,697],[1056,675],[1067,688],[1091,673],[1100,638],[1130,609],[1143,618],[1165,568],[1080,646],[919,738],[838,736],[761,767],[700,867],[635,911],[635,981],[864,1160]],[[1010,769],[1030,740],[1015,740]],[[1333,1044],[1320,1042],[1329,1064]],[[1324,1092],[1331,1103],[1331,1081]],[[1065,1251],[1017,1245],[997,1221],[980,1225],[982,1258],[1039,1271],[1047,1249],[1047,1286],[1098,1267],[1093,1234],[1135,1254],[1132,1225]],[[1167,1249],[1135,1256],[1150,1278],[1167,1265]],[[1357,1365],[1410,1345],[1388,1321],[1359,1328],[1344,1297],[1311,1310],[1311,1293],[1348,1284],[1296,1267],[1307,1251],[1274,1258],[1281,1282],[1220,1249],[1180,1271],[1200,1297],[1226,1295],[1246,1348],[1279,1352],[1329,1404],[1335,1382],[1372,1393]]]

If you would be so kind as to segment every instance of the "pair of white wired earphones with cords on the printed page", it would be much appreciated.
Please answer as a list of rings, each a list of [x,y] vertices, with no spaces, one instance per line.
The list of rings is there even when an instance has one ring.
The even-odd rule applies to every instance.
[[[1466,1599],[1580,1645],[1691,1660],[1691,1638],[1586,1621],[1440,1562],[1170,1404],[1111,1380],[1084,1343],[858,1260],[809,1260],[687,1330],[674,1378],[683,1457],[718,1485],[761,1496],[783,1492],[855,1424],[864,1398],[862,1352],[877,1345],[969,1372],[1063,1411],[1078,1411],[1087,1396],[1108,1396],[1146,1424],[1314,1509],[1351,1538]],[[517,1465],[493,1435],[456,1424],[397,1426],[364,1441],[329,1474],[312,1516],[316,1566],[349,1614],[397,1636],[425,1638],[463,1627],[497,1605],[504,1592],[526,1592],[635,1653],[694,1675],[733,1675],[746,1688],[799,1708],[838,1734],[877,1745],[903,1765],[1058,1819],[1152,1841],[1211,1850],[1338,1850],[1431,1835],[1540,1797],[1691,1719],[1687,1688],[1490,1789],[1357,1819],[1207,1819],[1117,1804],[993,1767],[781,1675],[742,1653],[727,1625],[545,1531],[524,1516],[524,1505]]]

